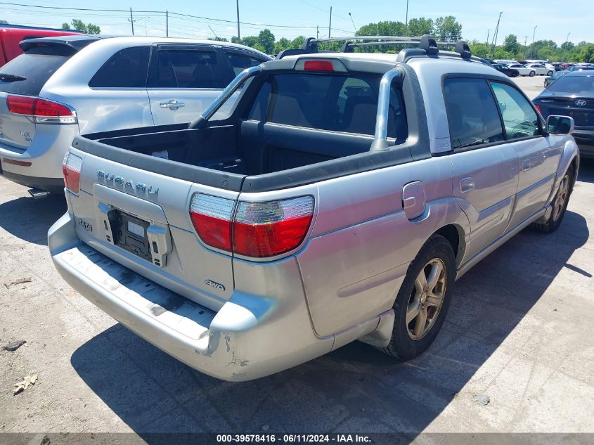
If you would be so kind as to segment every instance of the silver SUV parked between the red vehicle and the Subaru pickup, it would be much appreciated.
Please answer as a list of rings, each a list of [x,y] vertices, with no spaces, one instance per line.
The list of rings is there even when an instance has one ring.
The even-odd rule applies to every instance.
[[[219,41],[61,36],[22,41],[0,68],[0,174],[61,191],[61,165],[77,134],[181,124],[239,72],[269,56]]]

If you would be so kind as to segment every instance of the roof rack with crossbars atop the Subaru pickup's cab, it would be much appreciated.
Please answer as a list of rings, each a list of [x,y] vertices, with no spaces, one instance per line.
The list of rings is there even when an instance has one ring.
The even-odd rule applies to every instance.
[[[408,36],[348,36],[348,37],[328,37],[327,39],[315,39],[309,37],[305,39],[301,49],[285,49],[281,51],[276,58],[280,59],[286,56],[294,56],[296,54],[312,54],[332,51],[319,51],[318,45],[328,41],[344,41],[340,49],[341,53],[352,53],[356,47],[363,46],[382,46],[382,45],[418,45],[417,51],[414,51],[415,56],[437,56],[439,55],[439,46],[454,46],[456,53],[463,59],[473,60],[470,47],[464,40],[453,41],[436,41],[430,34],[424,34],[419,37]],[[421,51],[419,51],[421,50]]]

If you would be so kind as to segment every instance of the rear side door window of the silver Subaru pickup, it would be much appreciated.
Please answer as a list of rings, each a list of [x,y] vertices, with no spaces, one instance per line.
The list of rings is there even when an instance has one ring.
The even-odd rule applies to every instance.
[[[444,99],[452,148],[503,141],[503,129],[485,79],[445,79]]]

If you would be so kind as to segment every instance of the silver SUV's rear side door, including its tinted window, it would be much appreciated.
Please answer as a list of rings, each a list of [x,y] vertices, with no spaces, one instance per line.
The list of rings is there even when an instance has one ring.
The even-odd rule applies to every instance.
[[[153,45],[148,96],[155,125],[196,119],[230,80],[224,54],[212,45]]]

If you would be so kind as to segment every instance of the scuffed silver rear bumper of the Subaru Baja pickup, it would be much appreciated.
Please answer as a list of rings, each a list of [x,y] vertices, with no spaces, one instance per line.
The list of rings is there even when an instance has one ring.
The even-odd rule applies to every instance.
[[[330,352],[335,344],[335,335],[314,334],[293,257],[257,265],[258,271],[238,264],[235,270],[260,293],[238,279],[231,299],[215,312],[80,243],[70,214],[50,228],[49,247],[60,275],[86,299],[167,354],[216,378],[264,377]],[[279,277],[280,291],[270,281]],[[263,295],[267,288],[287,293]]]

